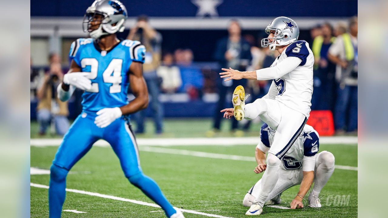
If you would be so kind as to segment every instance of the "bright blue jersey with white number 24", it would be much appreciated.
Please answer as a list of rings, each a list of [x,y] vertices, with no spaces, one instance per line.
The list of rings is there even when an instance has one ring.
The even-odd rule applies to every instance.
[[[82,109],[92,113],[105,107],[128,104],[128,70],[132,62],[144,63],[145,47],[139,41],[123,40],[104,51],[92,38],[79,38],[71,44],[69,60],[82,72],[90,72],[92,88],[82,95]]]

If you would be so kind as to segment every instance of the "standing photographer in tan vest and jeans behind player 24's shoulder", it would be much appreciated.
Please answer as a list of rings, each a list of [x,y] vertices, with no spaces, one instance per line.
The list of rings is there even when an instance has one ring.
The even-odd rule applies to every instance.
[[[156,74],[156,69],[160,65],[162,36],[149,25],[148,17],[142,15],[137,18],[137,22],[130,30],[127,39],[138,40],[145,46],[143,76],[150,95],[155,130],[157,134],[160,134],[163,132],[163,106],[159,101],[161,80]],[[144,133],[145,110],[137,112],[134,116],[137,123],[136,133]]]

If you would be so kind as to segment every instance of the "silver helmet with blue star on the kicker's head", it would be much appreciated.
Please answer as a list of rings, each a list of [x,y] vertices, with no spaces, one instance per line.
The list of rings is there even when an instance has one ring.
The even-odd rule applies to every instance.
[[[262,47],[265,48],[269,45],[269,50],[271,51],[275,50],[276,46],[291,44],[298,40],[299,37],[298,24],[288,17],[276,17],[273,19],[265,28],[265,32],[270,35],[272,30],[275,31],[274,37],[262,39]],[[269,42],[268,39],[273,39],[273,41]]]

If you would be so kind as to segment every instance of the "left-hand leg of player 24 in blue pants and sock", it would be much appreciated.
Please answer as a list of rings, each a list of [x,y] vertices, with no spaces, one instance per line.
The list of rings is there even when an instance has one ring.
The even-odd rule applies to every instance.
[[[96,133],[99,130],[94,125],[94,118],[89,118],[85,115],[85,113],[79,115],[73,125],[71,125],[51,165],[49,188],[50,218],[61,217],[62,206],[66,197],[66,176],[69,170],[98,140]]]

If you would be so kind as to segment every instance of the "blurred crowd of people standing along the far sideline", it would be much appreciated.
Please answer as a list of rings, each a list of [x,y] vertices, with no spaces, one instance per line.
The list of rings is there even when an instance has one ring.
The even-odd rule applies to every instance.
[[[338,135],[357,131],[357,17],[348,23],[332,26],[322,23],[310,30],[309,45],[314,53],[314,93],[312,110],[330,110]],[[149,88],[150,107],[153,111],[156,133],[163,132],[163,105],[159,101],[164,95],[185,94],[188,100],[201,100],[206,93],[218,93],[213,116],[213,133],[220,130],[221,109],[227,107],[232,91],[237,85],[246,87],[251,101],[264,96],[271,81],[228,81],[218,76],[221,67],[232,67],[240,71],[269,67],[279,55],[277,51],[262,48],[260,41],[266,35],[242,34],[238,21],[228,26],[228,36],[217,42],[213,64],[193,62],[190,48],[168,50],[162,48],[162,35],[149,25],[147,16],[139,16],[127,39],[141,41],[145,54],[144,78]],[[300,38],[300,40],[304,40]],[[217,61],[216,64],[214,64]],[[68,128],[66,102],[56,99],[53,88],[61,80],[62,71],[57,54],[50,55],[50,65],[44,76],[31,67],[31,99],[39,100],[37,119],[40,134],[45,134],[51,121],[52,128],[63,134]],[[32,61],[31,61],[32,66]],[[248,100],[249,101],[249,100]],[[144,111],[135,114],[137,133],[144,130]],[[54,123],[54,124],[53,124]],[[237,125],[232,119],[231,130],[248,129],[250,122]],[[62,129],[61,127],[62,126]]]

